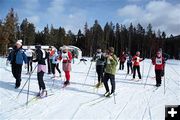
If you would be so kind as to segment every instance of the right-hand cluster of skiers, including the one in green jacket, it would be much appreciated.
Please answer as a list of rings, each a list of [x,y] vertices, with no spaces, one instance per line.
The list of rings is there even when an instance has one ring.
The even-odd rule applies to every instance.
[[[104,96],[108,97],[115,92],[115,74],[116,66],[119,61],[119,70],[124,70],[124,63],[127,61],[127,75],[129,73],[132,75],[132,80],[135,80],[136,71],[138,73],[139,80],[142,79],[140,72],[140,62],[145,58],[140,57],[140,52],[137,51],[136,54],[132,57],[130,52],[122,52],[119,56],[119,60],[114,54],[114,48],[110,47],[106,53],[103,53],[100,48],[97,49],[96,54],[93,57],[93,61],[96,61],[96,72],[98,75],[98,83],[96,87],[99,88],[103,84],[106,89]],[[165,61],[168,59],[168,56],[164,58],[162,56],[162,51],[158,50],[156,55],[151,59],[152,64],[155,65],[155,78],[156,78],[156,87],[161,86],[161,78],[164,75]],[[131,72],[130,72],[131,70]],[[148,73],[149,74],[149,73]],[[127,76],[126,75],[126,76]],[[111,92],[109,92],[108,79],[111,82]]]

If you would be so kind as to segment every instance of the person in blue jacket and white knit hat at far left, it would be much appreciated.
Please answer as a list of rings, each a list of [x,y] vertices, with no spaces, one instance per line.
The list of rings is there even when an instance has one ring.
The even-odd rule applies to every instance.
[[[15,89],[19,88],[21,85],[21,72],[23,61],[25,63],[25,68],[27,68],[27,56],[22,49],[22,40],[18,40],[8,56],[8,61],[11,63],[12,74],[16,79]],[[7,61],[7,62],[8,62]]]

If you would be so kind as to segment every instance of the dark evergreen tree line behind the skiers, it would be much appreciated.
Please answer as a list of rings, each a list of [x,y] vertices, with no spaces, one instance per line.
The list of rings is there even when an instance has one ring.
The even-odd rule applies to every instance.
[[[84,56],[92,56],[97,48],[106,50],[109,46],[115,48],[115,54],[122,51],[142,52],[144,57],[152,57],[154,53],[162,48],[163,52],[171,57],[180,59],[180,36],[166,36],[164,31],[155,32],[151,24],[147,28],[139,23],[132,23],[127,27],[123,24],[107,22],[102,27],[98,20],[93,26],[87,23],[84,29],[74,34],[63,27],[55,28],[46,25],[42,31],[35,31],[35,25],[25,18],[21,24],[18,23],[18,15],[11,8],[4,20],[0,20],[0,54],[7,53],[8,47],[12,47],[16,40],[22,39],[24,45],[49,45],[59,48],[62,45],[74,45],[83,51]]]

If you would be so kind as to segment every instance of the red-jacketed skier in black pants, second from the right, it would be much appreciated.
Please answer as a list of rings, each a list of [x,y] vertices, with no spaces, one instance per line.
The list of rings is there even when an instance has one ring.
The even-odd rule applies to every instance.
[[[138,72],[138,77],[141,79],[141,73],[140,73],[140,62],[143,61],[144,58],[140,58],[140,52],[137,51],[136,55],[133,57],[133,79],[135,79],[136,76],[136,70]]]

